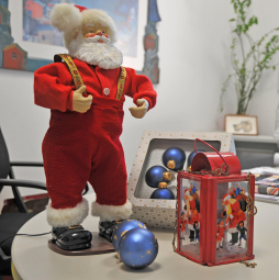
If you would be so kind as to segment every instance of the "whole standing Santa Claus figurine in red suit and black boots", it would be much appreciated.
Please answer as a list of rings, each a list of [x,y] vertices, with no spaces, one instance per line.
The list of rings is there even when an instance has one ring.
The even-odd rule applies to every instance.
[[[85,249],[92,238],[80,225],[89,210],[81,195],[87,181],[97,197],[91,214],[100,217],[100,236],[111,240],[116,221],[132,214],[119,139],[123,102],[133,98],[130,111],[141,119],[155,105],[156,91],[146,76],[121,66],[115,26],[104,11],[56,4],[51,23],[63,32],[68,55],[35,71],[35,104],[52,112],[43,141],[47,221],[57,246]]]

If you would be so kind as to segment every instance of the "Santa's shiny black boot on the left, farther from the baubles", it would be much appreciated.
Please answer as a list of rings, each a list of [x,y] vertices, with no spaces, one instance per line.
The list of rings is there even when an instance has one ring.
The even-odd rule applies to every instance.
[[[64,250],[82,250],[91,247],[92,234],[81,225],[53,227],[53,242]]]

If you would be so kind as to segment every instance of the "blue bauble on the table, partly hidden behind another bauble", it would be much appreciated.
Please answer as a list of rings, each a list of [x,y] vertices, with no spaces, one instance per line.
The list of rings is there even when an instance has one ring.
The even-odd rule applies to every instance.
[[[112,233],[112,245],[115,250],[119,249],[121,236],[133,228],[146,228],[145,224],[136,220],[126,220],[118,224]]]

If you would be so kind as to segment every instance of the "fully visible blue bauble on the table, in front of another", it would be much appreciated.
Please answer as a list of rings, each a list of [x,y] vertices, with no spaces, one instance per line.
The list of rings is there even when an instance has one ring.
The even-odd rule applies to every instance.
[[[158,254],[155,235],[144,228],[134,228],[125,233],[119,244],[119,259],[131,268],[149,266]]]

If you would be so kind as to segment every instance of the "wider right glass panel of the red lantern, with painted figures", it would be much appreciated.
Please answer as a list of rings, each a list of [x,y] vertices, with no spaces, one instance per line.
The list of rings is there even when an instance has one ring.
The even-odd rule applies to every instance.
[[[247,181],[217,183],[216,262],[247,254]]]

